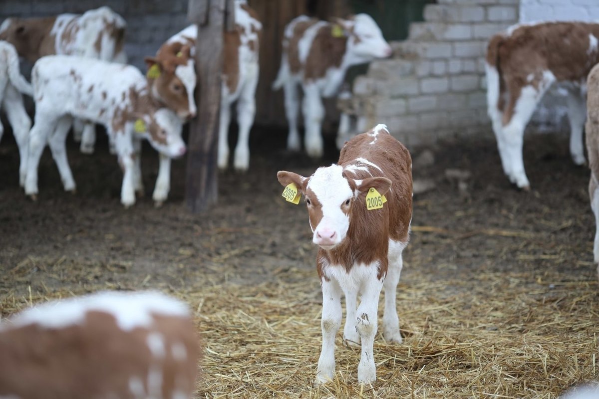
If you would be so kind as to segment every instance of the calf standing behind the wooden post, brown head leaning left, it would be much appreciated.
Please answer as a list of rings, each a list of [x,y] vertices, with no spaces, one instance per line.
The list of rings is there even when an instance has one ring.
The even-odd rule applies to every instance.
[[[258,64],[258,45],[262,24],[258,15],[245,0],[235,1],[235,29],[224,33],[223,82],[220,98],[220,124],[218,166],[226,169],[229,162],[228,132],[231,122],[231,106],[237,102],[237,122],[239,134],[233,157],[233,166],[237,170],[247,170],[250,163],[249,135],[256,114],[256,85],[260,66]],[[177,87],[183,87],[189,94],[189,103],[193,101],[193,89],[196,76],[193,66],[195,41],[198,36],[196,25],[187,26],[167,40],[159,48],[155,58],[148,57],[149,71],[158,68],[157,78],[149,73],[152,95],[167,106],[177,101]],[[190,48],[190,53],[181,51]],[[195,112],[195,111],[194,111]]]

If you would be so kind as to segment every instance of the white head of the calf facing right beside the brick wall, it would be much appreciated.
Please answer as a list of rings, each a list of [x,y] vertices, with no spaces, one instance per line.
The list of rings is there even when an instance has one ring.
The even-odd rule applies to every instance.
[[[350,37],[348,45],[351,54],[368,62],[373,58],[391,56],[392,50],[389,43],[383,38],[379,25],[368,14],[358,14],[354,17],[353,33],[357,37]]]

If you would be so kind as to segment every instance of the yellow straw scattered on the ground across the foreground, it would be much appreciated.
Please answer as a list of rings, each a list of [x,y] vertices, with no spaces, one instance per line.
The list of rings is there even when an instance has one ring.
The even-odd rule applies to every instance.
[[[131,289],[144,280],[124,287],[97,284],[96,276],[110,270],[117,276],[126,266],[72,267],[65,260],[40,259],[25,261],[7,278],[30,278],[31,267],[41,264],[50,264],[49,276],[68,276],[80,284],[42,294],[4,290],[3,315],[52,298]],[[226,262],[218,268],[222,273]],[[406,264],[398,287],[404,343],[385,343],[378,334],[376,383],[357,383],[359,347],[343,346],[341,328],[336,378],[313,388],[320,351],[320,287],[314,270],[275,271],[272,281],[253,286],[216,279],[206,284],[206,276],[187,275],[187,281],[198,283],[184,290],[165,282],[146,284],[193,309],[204,342],[198,397],[555,398],[599,376],[599,296],[589,279],[550,271],[482,272],[468,280],[431,282]]]

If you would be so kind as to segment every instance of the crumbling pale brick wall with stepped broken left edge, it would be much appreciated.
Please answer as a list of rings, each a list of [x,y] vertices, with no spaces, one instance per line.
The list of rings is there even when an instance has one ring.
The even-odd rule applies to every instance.
[[[423,16],[406,40],[391,43],[392,59],[370,63],[354,82],[349,112],[358,129],[385,123],[408,146],[490,132],[486,44],[518,22],[519,1],[438,0]]]

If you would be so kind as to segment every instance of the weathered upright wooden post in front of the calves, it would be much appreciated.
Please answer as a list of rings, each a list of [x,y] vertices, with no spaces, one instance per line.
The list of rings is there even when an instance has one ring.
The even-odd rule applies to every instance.
[[[185,179],[185,202],[193,213],[207,211],[218,197],[217,146],[226,1],[189,0],[187,12],[190,22],[198,25],[195,47],[198,115],[190,124]]]

